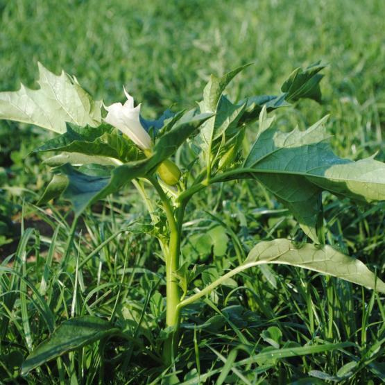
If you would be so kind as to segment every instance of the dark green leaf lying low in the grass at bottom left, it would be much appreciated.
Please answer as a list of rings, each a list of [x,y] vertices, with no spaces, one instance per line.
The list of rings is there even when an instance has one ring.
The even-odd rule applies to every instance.
[[[65,320],[49,339],[31,352],[22,366],[22,375],[26,375],[37,366],[72,350],[82,348],[106,336],[119,332],[107,320],[94,316],[83,316]]]

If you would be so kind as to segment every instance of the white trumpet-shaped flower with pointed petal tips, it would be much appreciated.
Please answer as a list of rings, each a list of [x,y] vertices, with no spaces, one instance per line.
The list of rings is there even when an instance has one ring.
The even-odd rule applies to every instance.
[[[153,142],[150,135],[143,128],[142,123],[140,123],[141,105],[139,104],[134,107],[134,98],[128,94],[126,89],[124,89],[124,93],[127,97],[126,103],[123,105],[121,103],[114,103],[110,106],[105,106],[108,114],[104,120],[127,135],[143,151],[149,151],[153,147]]]

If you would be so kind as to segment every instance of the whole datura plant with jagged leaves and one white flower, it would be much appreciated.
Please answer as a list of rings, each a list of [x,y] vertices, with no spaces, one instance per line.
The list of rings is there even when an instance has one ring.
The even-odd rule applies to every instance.
[[[165,230],[156,237],[166,264],[165,336],[160,357],[166,366],[178,352],[178,329],[188,314],[185,309],[253,266],[298,266],[385,293],[385,283],[362,262],[325,244],[321,199],[323,191],[330,191],[358,202],[385,200],[385,164],[374,157],[353,162],[334,155],[327,143],[327,117],[307,130],[281,132],[268,116],[299,99],[320,102],[322,65],[296,69],[277,95],[231,101],[224,94],[225,88],[245,67],[221,77],[211,76],[198,107],[181,112],[167,110],[153,121],[142,117],[141,105],[135,107],[125,89],[124,104],[103,105],[94,101],[76,78],[64,72],[56,76],[42,65],[39,89],[22,86],[17,92],[0,93],[1,119],[57,132],[35,150],[56,153],[44,160],[53,167],[53,178],[39,204],[58,196],[69,200],[75,212],[73,232],[86,207],[130,183],[144,199],[154,224],[160,215],[165,216]],[[253,145],[245,146],[251,136]],[[185,167],[172,160],[180,146],[191,155]],[[200,269],[188,266],[180,252],[185,208],[198,191],[242,179],[264,186],[289,209],[309,243],[298,246],[287,239],[260,241],[239,266],[191,294],[189,284]],[[154,194],[148,194],[151,188]],[[63,272],[68,259],[66,253],[61,261]],[[66,320],[29,354],[23,373],[112,334],[124,334],[112,320],[95,316]],[[69,335],[78,338],[62,338]]]

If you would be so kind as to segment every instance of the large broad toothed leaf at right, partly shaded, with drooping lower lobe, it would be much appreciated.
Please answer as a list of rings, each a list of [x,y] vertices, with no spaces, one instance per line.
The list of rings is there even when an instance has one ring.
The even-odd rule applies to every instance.
[[[323,190],[355,200],[385,199],[385,164],[373,157],[353,162],[334,155],[325,142],[325,120],[305,131],[259,130],[243,172],[262,183],[288,207],[316,241]],[[239,173],[234,172],[239,178]]]

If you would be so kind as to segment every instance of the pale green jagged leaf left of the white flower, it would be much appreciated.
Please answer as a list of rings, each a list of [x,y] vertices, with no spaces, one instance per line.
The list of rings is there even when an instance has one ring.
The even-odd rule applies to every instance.
[[[16,92],[0,92],[0,119],[21,121],[53,130],[65,132],[65,123],[76,126],[99,126],[101,123],[101,101],[80,87],[76,78],[65,74],[52,74],[40,63],[40,89],[28,89],[22,85]]]

